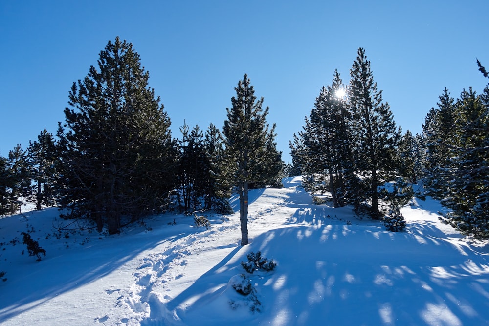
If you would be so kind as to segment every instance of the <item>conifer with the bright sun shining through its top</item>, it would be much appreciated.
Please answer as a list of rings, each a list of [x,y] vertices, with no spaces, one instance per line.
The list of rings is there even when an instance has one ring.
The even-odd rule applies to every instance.
[[[344,89],[340,75],[334,71],[331,86],[322,87],[316,98],[304,131],[299,133],[299,147],[293,148],[293,157],[300,153],[300,165],[307,175],[305,189],[312,192],[329,191],[333,206],[348,202],[353,181],[351,157],[350,113],[339,91]],[[295,140],[298,145],[298,140]]]

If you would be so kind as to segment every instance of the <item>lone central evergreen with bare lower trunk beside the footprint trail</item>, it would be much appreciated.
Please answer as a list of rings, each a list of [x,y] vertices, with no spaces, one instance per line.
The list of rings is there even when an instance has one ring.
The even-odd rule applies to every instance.
[[[231,99],[232,108],[226,109],[227,120],[223,127],[225,157],[222,173],[233,180],[239,194],[241,245],[246,245],[249,184],[269,180],[277,175],[282,160],[276,149],[273,149],[275,128],[269,129],[266,122],[268,107],[262,109],[264,99],[256,99],[246,74],[235,90],[236,97]],[[270,149],[273,151],[270,152]]]

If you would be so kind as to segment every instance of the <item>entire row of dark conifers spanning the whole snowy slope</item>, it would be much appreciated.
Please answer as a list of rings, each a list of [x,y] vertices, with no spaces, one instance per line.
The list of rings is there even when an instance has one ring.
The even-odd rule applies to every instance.
[[[456,100],[445,89],[422,134],[402,134],[359,48],[349,83],[334,71],[320,89],[286,166],[247,75],[222,130],[184,123],[179,138],[148,79],[131,43],[109,42],[98,65],[73,83],[56,134],[44,130],[27,149],[0,156],[0,214],[25,202],[57,206],[63,218],[88,219],[113,234],[170,208],[230,212],[234,190],[244,245],[248,190],[281,186],[289,173],[303,175],[308,191],[330,193],[334,207],[352,205],[394,231],[405,225],[400,208],[413,196],[411,185],[422,181],[417,196],[441,200],[449,208],[445,223],[489,238],[489,84]]]

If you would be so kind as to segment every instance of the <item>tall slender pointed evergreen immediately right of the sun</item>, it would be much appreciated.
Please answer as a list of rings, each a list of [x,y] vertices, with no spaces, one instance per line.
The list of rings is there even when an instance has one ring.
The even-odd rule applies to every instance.
[[[374,82],[370,61],[363,48],[350,71],[350,109],[353,115],[355,166],[366,184],[373,218],[380,218],[378,186],[393,178],[395,151],[400,140],[388,103],[382,102],[382,91]]]

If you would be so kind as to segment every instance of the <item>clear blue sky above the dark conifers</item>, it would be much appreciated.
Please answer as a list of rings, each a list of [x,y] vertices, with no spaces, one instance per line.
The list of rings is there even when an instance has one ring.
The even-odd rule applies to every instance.
[[[247,73],[270,107],[277,143],[301,130],[334,69],[344,83],[358,47],[403,131],[421,132],[447,87],[487,84],[489,1],[0,1],[0,154],[64,121],[68,91],[116,36],[132,42],[174,137],[186,119],[222,128]]]

